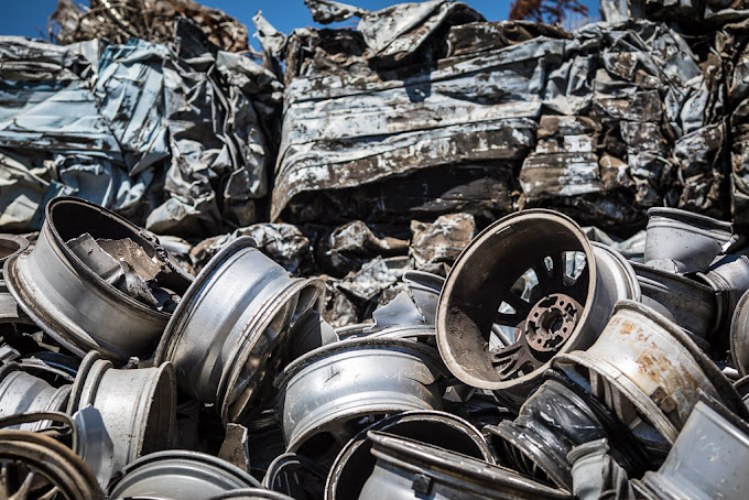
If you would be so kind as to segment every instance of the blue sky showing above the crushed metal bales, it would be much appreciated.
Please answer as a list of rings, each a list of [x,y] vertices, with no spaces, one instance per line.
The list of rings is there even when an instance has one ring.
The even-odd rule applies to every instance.
[[[351,3],[368,10],[382,9],[394,3],[401,3],[402,1],[344,0],[345,3]],[[40,33],[39,29],[46,33],[47,18],[55,9],[57,0],[3,0],[2,3],[3,12],[0,15],[0,34],[36,37]],[[85,0],[83,3],[87,6],[88,1]],[[262,11],[271,24],[284,33],[291,32],[294,28],[316,25],[303,0],[203,0],[200,3],[221,9],[229,15],[234,15],[248,25],[250,35],[254,32],[252,15],[259,10]],[[510,0],[467,0],[467,3],[481,12],[489,21],[507,19],[510,8]],[[583,3],[588,6],[590,17],[598,17],[597,0],[583,0]],[[350,22],[343,24],[350,24]]]

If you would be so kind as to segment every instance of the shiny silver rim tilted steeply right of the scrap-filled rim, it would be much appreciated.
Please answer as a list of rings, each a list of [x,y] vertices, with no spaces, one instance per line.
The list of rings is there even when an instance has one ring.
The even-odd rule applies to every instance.
[[[291,325],[319,308],[322,293],[318,280],[291,278],[252,239],[238,238],[183,296],[154,363],[174,363],[183,391],[238,422],[272,399],[271,377],[291,361]]]

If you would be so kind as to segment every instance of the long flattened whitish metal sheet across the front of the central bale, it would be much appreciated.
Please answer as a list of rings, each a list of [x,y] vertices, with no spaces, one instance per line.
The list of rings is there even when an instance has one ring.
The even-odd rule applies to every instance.
[[[338,72],[286,88],[271,219],[305,191],[441,165],[521,161],[534,145],[543,68],[564,41],[536,39],[436,68]],[[406,118],[408,117],[408,118]]]

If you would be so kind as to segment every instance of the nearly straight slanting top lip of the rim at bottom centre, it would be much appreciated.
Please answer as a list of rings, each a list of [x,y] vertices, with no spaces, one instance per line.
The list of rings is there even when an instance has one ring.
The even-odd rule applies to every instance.
[[[493,489],[498,498],[502,488],[528,491],[538,498],[569,498],[567,491],[542,485],[514,470],[444,448],[378,431],[369,431],[367,437],[372,442],[371,453],[378,459],[394,461],[399,468],[426,475],[457,488],[469,481]]]

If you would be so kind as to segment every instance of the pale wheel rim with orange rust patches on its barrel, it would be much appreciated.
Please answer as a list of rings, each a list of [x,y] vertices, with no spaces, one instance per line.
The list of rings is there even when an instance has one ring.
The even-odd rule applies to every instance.
[[[554,363],[582,370],[594,394],[630,428],[653,425],[669,444],[703,392],[747,415],[728,379],[688,336],[632,301],[617,305],[588,350],[561,355]]]

